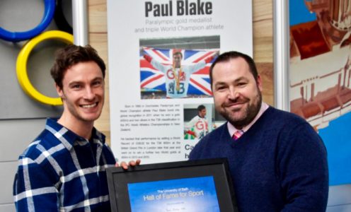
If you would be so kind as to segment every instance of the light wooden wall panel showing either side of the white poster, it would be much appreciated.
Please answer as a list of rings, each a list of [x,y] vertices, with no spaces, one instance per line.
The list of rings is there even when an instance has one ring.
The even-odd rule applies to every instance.
[[[90,44],[108,65],[107,0],[88,0]],[[253,58],[263,79],[263,100],[273,105],[273,18],[272,0],[253,0]],[[106,74],[105,107],[96,121],[110,142],[110,107],[108,70]],[[116,91],[119,92],[119,91]]]

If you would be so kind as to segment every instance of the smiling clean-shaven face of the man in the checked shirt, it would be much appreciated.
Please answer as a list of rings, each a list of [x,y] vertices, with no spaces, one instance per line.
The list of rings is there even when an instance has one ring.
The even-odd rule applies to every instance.
[[[62,88],[57,86],[57,93],[64,102],[64,114],[77,124],[93,123],[103,109],[104,86],[103,73],[96,62],[71,66],[64,73]]]

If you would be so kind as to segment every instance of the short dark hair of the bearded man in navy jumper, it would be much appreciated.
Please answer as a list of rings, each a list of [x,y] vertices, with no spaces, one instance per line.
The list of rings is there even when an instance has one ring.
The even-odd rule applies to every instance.
[[[252,57],[248,56],[247,54],[243,54],[241,52],[224,52],[223,54],[220,54],[212,63],[211,67],[209,67],[209,81],[211,82],[211,88],[212,88],[212,71],[214,69],[214,66],[218,63],[229,61],[231,59],[236,59],[238,57],[241,57],[242,59],[245,59],[245,61],[248,63],[249,71],[252,73],[253,78],[255,78],[255,81],[257,81],[258,78],[258,71],[255,65],[255,61],[253,61]]]

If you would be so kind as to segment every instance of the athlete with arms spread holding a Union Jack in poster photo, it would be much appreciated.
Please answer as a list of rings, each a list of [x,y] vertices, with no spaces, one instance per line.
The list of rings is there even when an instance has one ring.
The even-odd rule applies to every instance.
[[[183,54],[179,49],[173,49],[172,65],[161,64],[147,54],[144,54],[144,58],[165,74],[167,98],[186,98],[188,96],[190,75],[205,68],[206,64],[214,59],[214,56],[209,56],[197,62],[197,64],[188,66],[182,66]]]

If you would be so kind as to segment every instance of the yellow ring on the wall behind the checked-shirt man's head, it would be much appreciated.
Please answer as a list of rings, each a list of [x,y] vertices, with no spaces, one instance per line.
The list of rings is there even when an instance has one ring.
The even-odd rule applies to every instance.
[[[17,79],[20,83],[22,89],[27,93],[31,98],[38,100],[47,105],[62,105],[61,98],[50,98],[46,95],[43,95],[38,90],[36,90],[32,83],[30,83],[27,73],[27,61],[30,52],[33,48],[38,45],[40,42],[49,39],[57,39],[67,44],[73,44],[74,38],[73,35],[65,33],[59,30],[52,30],[42,33],[36,37],[33,37],[32,40],[29,40],[24,47],[21,49],[21,52],[18,54],[16,62],[16,73]]]

